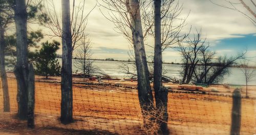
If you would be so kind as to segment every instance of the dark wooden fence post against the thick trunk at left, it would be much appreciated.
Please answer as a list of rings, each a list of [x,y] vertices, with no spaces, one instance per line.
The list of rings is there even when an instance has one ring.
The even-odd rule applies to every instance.
[[[28,82],[28,128],[34,128],[34,108],[35,108],[35,73],[33,64],[29,64]]]

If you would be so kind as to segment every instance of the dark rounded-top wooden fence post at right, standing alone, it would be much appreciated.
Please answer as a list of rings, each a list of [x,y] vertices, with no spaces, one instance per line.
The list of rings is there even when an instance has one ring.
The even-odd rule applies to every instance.
[[[240,127],[241,127],[241,93],[239,89],[235,89],[232,94],[233,98],[233,105],[232,105],[232,112],[231,112],[231,135],[238,135],[240,134]]]

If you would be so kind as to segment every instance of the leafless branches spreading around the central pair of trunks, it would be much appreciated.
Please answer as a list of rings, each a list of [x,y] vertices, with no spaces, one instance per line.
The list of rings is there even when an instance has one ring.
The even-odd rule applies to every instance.
[[[129,9],[126,8],[127,2],[125,0],[121,1],[103,1],[101,6],[109,9],[108,14],[102,14],[114,22],[116,26],[116,30],[118,33],[123,34],[123,36],[133,45],[132,33],[130,31],[131,22],[129,18]],[[174,44],[182,41],[188,34],[182,33],[182,29],[185,26],[185,20],[187,16],[181,17],[182,7],[178,2],[172,1],[162,1],[161,3],[161,46],[162,51],[167,48],[173,47]],[[147,43],[149,38],[155,38],[154,35],[154,2],[153,1],[140,1],[140,11],[141,11],[141,22],[143,26],[143,37],[145,41],[145,45],[151,48],[154,48],[154,44]],[[135,61],[134,52],[132,51],[133,46],[130,47],[128,54],[131,61]],[[151,57],[151,56],[148,56]],[[153,60],[148,60],[153,61]],[[136,70],[135,64],[125,63],[122,66],[122,72],[129,75],[129,77],[136,77],[136,73],[133,71]],[[148,66],[150,69],[150,75],[152,72],[152,76],[154,73],[154,65]],[[167,72],[166,70],[163,70]],[[168,78],[168,77],[165,77]]]

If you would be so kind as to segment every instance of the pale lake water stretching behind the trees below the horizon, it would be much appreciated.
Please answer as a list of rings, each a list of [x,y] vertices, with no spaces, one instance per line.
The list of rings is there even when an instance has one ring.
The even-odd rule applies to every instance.
[[[61,64],[61,59],[58,59]],[[74,59],[75,60],[75,59]],[[73,61],[74,61],[73,60]],[[74,63],[74,62],[73,62]],[[128,78],[129,76],[123,72],[121,72],[120,66],[123,65],[125,62],[121,61],[102,61],[96,60],[94,64],[103,72],[103,74],[107,74],[112,78]],[[180,77],[180,70],[181,65],[176,64],[163,64],[164,69],[167,70],[165,76],[168,77]],[[10,70],[10,68],[7,68]],[[136,73],[132,66],[129,66],[131,73]],[[225,75],[222,82],[219,83],[229,83],[229,84],[236,84],[236,85],[245,85],[245,77],[241,69],[239,68],[229,68],[230,73]],[[77,69],[73,65],[73,72],[76,72]],[[256,85],[256,76],[253,76],[253,81],[249,82],[248,85]]]

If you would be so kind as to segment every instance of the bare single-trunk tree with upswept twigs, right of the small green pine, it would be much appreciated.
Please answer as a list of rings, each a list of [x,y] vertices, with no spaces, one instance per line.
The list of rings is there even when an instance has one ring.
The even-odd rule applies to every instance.
[[[61,70],[61,122],[70,123],[73,121],[73,99],[72,99],[72,53],[82,44],[85,33],[88,14],[84,13],[86,1],[81,1],[78,7],[73,0],[72,12],[70,12],[70,1],[62,0],[61,17],[56,11],[53,0],[46,1],[46,8],[42,10],[41,20],[46,22],[45,27],[53,34],[46,34],[50,37],[62,38],[62,70]],[[95,5],[96,6],[96,5]],[[62,24],[60,20],[62,19]]]

